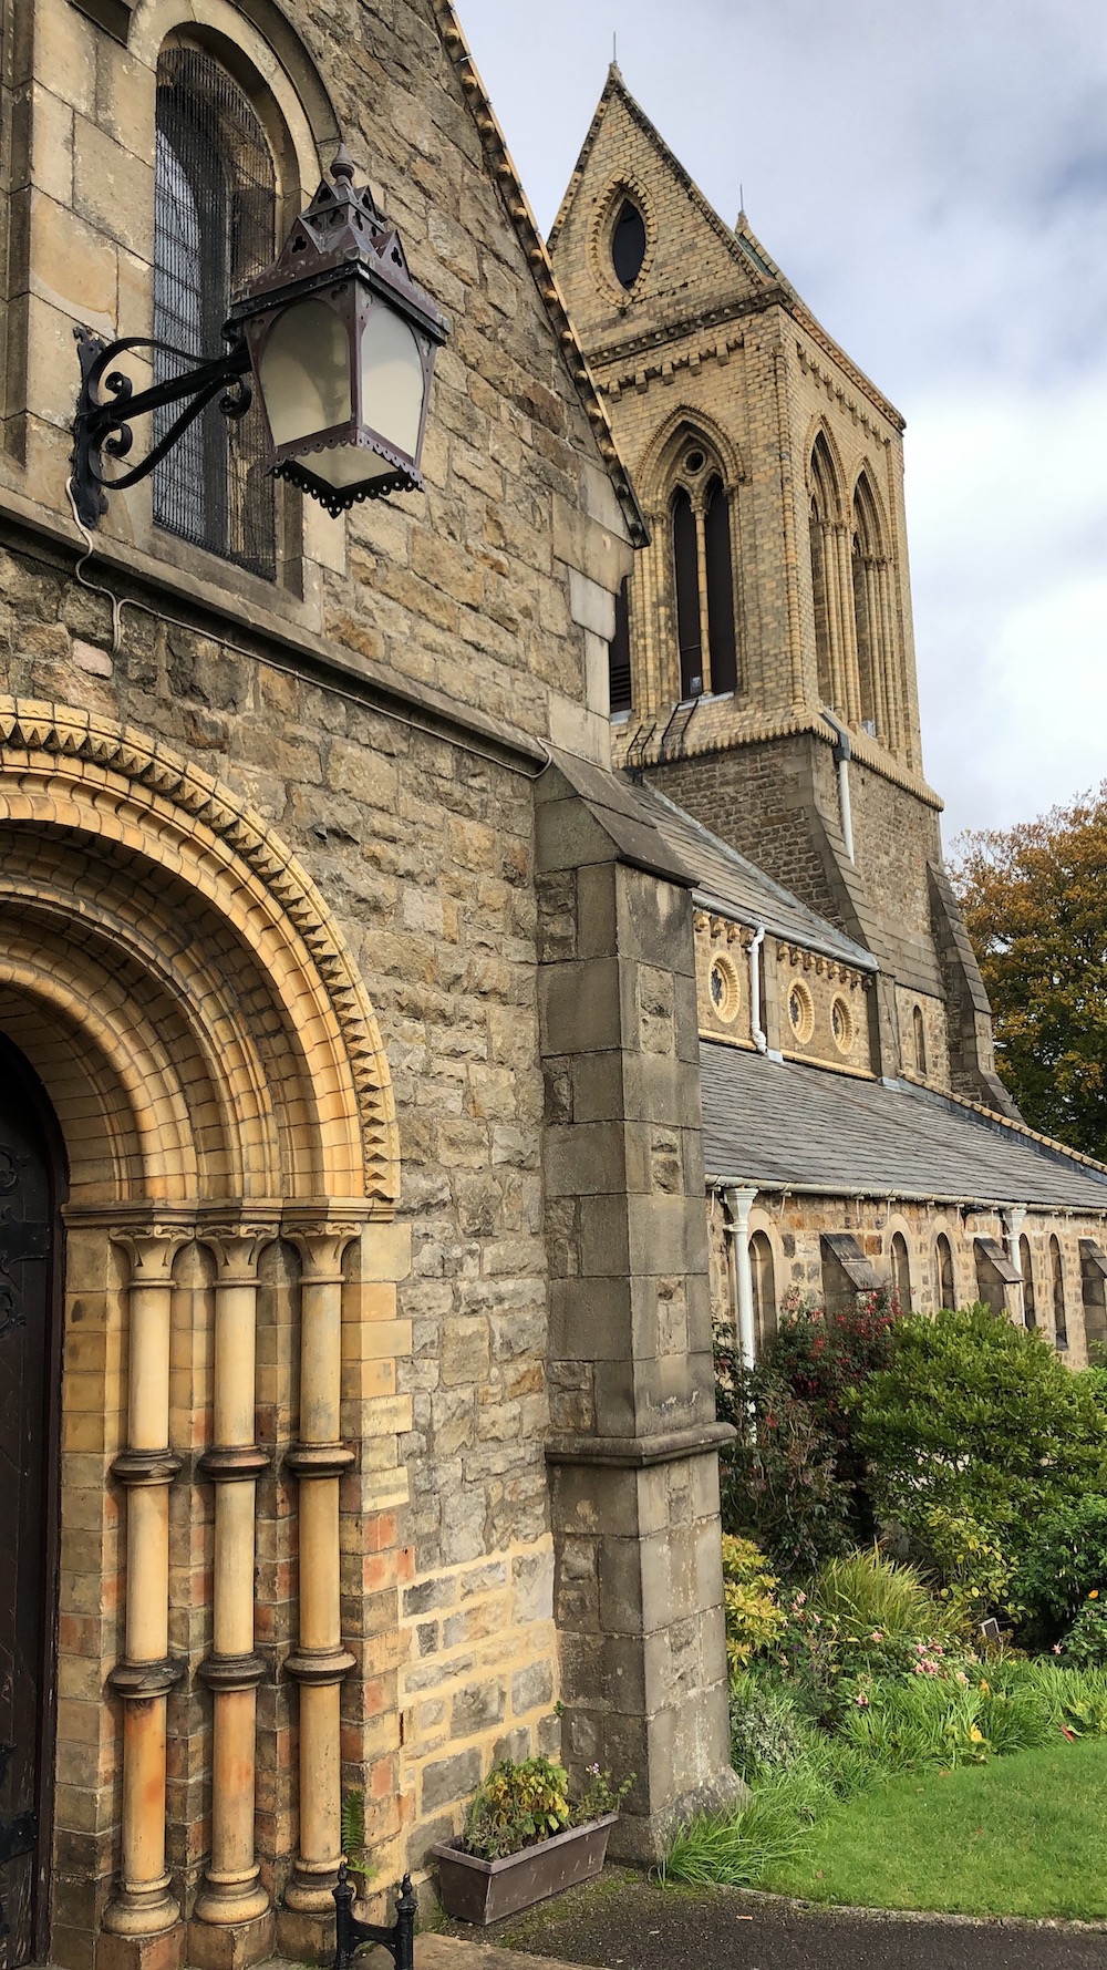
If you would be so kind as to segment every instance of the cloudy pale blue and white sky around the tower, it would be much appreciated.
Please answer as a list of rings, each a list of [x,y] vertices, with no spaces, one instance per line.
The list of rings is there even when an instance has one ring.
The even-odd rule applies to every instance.
[[[628,89],[908,420],[945,839],[1107,776],[1103,0],[459,0],[550,230]]]

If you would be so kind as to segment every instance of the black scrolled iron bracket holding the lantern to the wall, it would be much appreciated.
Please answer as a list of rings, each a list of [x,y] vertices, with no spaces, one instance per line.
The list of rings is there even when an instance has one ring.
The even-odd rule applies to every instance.
[[[81,390],[73,420],[71,453],[73,504],[81,524],[93,528],[108,510],[106,494],[122,492],[126,487],[136,487],[140,479],[146,479],[219,392],[223,392],[219,408],[225,418],[240,418],[250,408],[254,392],[248,376],[250,355],[236,323],[228,323],[225,329],[230,347],[225,355],[213,357],[209,362],[197,362],[189,351],[173,349],[171,343],[154,341],[150,335],[124,335],[114,343],[104,343],[83,325],[75,327],[73,335],[77,337],[77,355],[81,359]],[[183,368],[177,376],[167,376],[163,382],[152,384],[148,390],[136,390],[124,370],[112,368],[120,357],[136,349],[158,351],[191,366]],[[173,418],[169,429],[162,433],[138,465],[132,465],[118,477],[106,479],[104,457],[126,459],[130,453],[134,443],[132,420],[148,418],[169,404],[185,406]]]

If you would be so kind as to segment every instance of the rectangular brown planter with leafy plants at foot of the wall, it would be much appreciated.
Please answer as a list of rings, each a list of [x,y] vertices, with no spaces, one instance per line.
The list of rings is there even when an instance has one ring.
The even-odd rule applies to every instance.
[[[599,1873],[632,1783],[613,1787],[609,1771],[589,1765],[589,1785],[573,1805],[569,1773],[550,1757],[492,1765],[473,1795],[461,1838],[431,1848],[445,1913],[463,1923],[498,1923]]]

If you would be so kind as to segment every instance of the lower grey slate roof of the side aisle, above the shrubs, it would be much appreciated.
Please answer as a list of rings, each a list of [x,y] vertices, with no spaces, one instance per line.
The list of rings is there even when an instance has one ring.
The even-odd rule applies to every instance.
[[[827,1196],[957,1198],[1107,1214],[1107,1172],[906,1082],[699,1048],[713,1178]]]

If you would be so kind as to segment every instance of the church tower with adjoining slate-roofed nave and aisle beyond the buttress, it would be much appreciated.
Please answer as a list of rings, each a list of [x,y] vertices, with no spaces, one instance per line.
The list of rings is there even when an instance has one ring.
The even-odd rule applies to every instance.
[[[554,270],[650,544],[613,762],[691,877],[713,1312],[985,1300],[1107,1342],[1107,1170],[1028,1131],[922,768],[904,422],[613,65]]]

